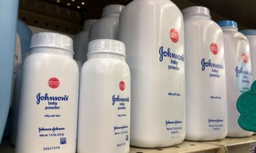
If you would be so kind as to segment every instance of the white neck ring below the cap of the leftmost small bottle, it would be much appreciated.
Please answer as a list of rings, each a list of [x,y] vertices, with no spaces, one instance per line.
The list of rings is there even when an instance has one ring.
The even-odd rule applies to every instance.
[[[48,53],[48,54],[57,54],[57,55],[64,55],[69,56],[70,58],[73,58],[74,53],[70,52],[68,50],[63,50],[60,48],[32,48],[30,50],[30,54],[36,54],[36,53]]]

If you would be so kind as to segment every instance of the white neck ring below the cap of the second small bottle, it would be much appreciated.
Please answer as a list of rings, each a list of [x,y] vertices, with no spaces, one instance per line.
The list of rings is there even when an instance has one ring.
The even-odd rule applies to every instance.
[[[113,58],[120,61],[126,62],[126,56],[121,54],[109,53],[109,52],[99,52],[93,54],[87,54],[87,60],[96,59],[96,58]]]

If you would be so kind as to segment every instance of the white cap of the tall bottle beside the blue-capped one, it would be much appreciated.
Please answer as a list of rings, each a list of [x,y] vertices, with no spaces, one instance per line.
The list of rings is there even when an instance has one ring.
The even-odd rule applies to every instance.
[[[209,9],[203,6],[187,7],[184,10],[182,10],[182,14],[184,17],[191,15],[201,15],[211,18]]]

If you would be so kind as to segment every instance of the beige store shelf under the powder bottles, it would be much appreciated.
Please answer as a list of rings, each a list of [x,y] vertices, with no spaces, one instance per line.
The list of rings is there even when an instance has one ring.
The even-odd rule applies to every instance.
[[[169,148],[130,148],[130,153],[254,153],[256,135],[244,138],[226,138],[220,141],[184,141]],[[14,153],[8,139],[3,139],[1,153]]]

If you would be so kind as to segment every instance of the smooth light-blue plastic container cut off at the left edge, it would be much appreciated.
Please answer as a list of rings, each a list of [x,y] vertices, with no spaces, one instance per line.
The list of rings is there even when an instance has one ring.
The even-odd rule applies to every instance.
[[[18,0],[0,1],[0,143],[10,107],[17,16]]]

